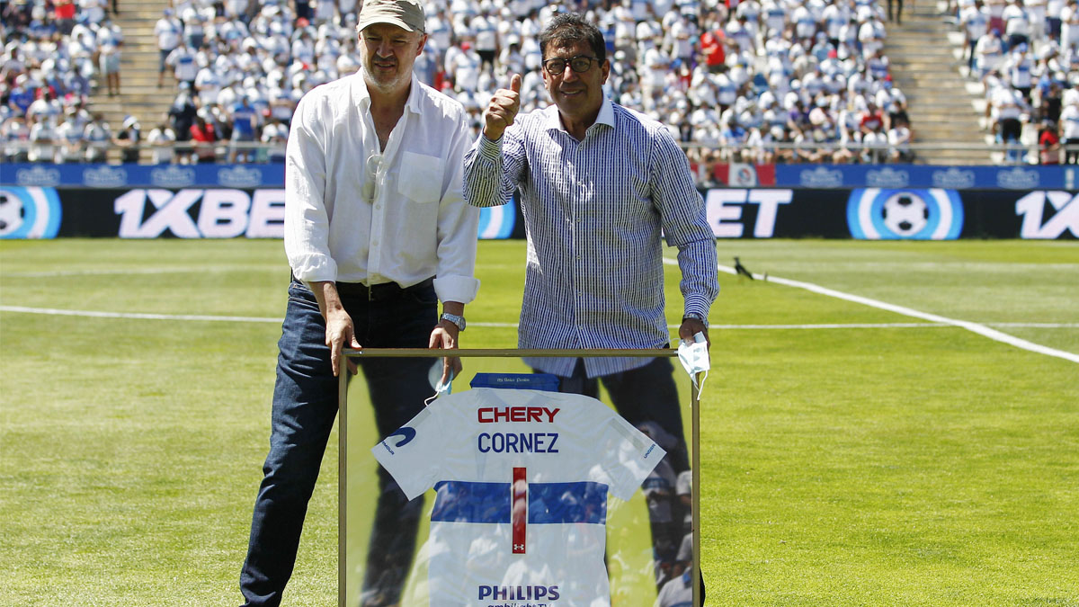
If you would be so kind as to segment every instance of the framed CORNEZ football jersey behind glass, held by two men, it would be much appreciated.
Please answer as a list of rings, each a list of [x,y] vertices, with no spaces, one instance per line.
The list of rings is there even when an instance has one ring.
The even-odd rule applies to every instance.
[[[605,388],[559,392],[519,358],[537,351],[457,353],[465,372],[437,399],[429,350],[365,350],[369,368],[342,380],[340,605],[699,604],[688,378],[670,374],[674,402],[638,407]],[[672,372],[677,355],[538,355],[584,353]],[[665,407],[684,426],[650,413]]]

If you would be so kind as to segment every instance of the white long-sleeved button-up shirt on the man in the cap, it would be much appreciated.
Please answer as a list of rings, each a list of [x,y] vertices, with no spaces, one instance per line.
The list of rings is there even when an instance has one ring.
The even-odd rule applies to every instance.
[[[285,253],[295,276],[476,297],[477,208],[462,195],[469,131],[461,104],[412,77],[384,150],[361,72],[308,93],[285,159]]]

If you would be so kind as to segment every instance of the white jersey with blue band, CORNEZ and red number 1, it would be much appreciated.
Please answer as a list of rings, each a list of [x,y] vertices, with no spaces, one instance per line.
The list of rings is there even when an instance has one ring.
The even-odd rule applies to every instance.
[[[599,401],[476,388],[372,449],[409,499],[436,491],[431,607],[607,607],[606,495],[628,500],[666,453]]]

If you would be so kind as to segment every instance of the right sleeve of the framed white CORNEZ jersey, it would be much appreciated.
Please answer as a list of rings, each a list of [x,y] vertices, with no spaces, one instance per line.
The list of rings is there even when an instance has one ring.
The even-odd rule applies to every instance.
[[[611,477],[610,490],[615,497],[629,500],[641,483],[667,455],[652,439],[614,415],[603,424],[602,443],[606,448],[604,467]]]

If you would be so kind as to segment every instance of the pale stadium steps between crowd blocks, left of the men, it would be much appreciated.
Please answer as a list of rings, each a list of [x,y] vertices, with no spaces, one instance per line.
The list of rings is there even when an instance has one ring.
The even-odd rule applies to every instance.
[[[101,112],[118,133],[124,117],[131,114],[142,125],[145,137],[161,122],[176,96],[176,82],[165,75],[165,85],[158,89],[158,39],[153,26],[161,18],[168,0],[121,2],[120,15],[112,19],[124,32],[120,57],[120,96],[109,97],[104,79],[90,98],[91,111]],[[149,160],[149,150],[141,152]],[[119,161],[119,151],[111,150],[110,160]]]

